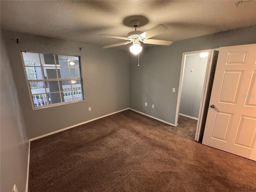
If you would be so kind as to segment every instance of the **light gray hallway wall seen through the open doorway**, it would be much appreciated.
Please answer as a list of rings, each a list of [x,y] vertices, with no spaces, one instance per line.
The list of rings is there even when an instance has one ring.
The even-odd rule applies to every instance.
[[[186,55],[183,74],[180,113],[198,118],[208,56]],[[191,70],[193,69],[193,72]]]

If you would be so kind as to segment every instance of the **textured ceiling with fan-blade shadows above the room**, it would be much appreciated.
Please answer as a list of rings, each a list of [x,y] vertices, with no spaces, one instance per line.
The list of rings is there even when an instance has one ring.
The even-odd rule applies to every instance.
[[[141,15],[146,31],[157,24],[168,30],[154,39],[178,41],[256,24],[256,1],[0,1],[1,29],[99,46],[122,42],[99,34],[126,37],[134,30],[125,18]],[[145,45],[143,45],[145,46]],[[120,46],[117,48],[125,48]]]

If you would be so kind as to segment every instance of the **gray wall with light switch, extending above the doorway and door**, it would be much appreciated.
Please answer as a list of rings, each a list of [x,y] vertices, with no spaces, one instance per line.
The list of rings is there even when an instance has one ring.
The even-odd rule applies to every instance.
[[[145,48],[140,67],[138,56],[130,54],[130,108],[174,124],[182,53],[252,43],[256,25]]]

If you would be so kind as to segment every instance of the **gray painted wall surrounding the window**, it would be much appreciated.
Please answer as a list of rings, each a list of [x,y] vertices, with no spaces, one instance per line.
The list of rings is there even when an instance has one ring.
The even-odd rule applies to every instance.
[[[128,52],[17,32],[4,36],[29,138],[129,107]],[[20,50],[81,56],[85,100],[33,111]]]

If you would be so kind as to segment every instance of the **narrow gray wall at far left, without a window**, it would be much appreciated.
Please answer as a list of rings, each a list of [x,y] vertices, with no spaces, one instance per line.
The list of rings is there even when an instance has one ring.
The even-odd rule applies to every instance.
[[[1,32],[1,192],[26,190],[28,140],[20,113],[16,88]]]

